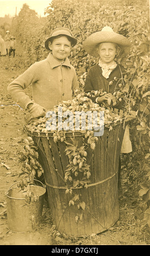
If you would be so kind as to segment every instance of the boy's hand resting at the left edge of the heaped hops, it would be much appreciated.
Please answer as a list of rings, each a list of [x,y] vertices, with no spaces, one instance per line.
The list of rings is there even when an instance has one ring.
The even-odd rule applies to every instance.
[[[28,109],[33,118],[44,117],[46,109],[37,103],[28,105]]]

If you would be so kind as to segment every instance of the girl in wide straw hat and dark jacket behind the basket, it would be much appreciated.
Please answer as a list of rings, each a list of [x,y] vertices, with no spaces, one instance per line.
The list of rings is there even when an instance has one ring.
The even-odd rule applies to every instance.
[[[110,27],[104,27],[102,31],[96,32],[83,42],[83,48],[90,55],[99,57],[99,63],[89,69],[85,81],[84,91],[91,92],[92,90],[103,89],[107,94],[101,97],[91,97],[96,103],[105,103],[108,106],[108,101],[114,99],[113,93],[118,91],[118,80],[123,78],[125,70],[119,65],[115,59],[119,54],[127,51],[130,42],[125,36],[113,32]],[[122,108],[120,102],[117,102],[115,108]],[[129,127],[126,126],[125,135],[123,137],[121,153],[130,153],[132,144],[129,139]],[[121,188],[120,181],[121,161],[119,163],[119,179],[118,186]]]

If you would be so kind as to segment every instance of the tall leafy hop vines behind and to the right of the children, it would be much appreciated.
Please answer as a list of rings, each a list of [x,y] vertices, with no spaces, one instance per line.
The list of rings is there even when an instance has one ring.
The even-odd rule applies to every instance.
[[[64,26],[71,29],[78,43],[71,51],[69,59],[76,69],[81,88],[84,86],[83,74],[96,62],[95,58],[88,56],[83,50],[83,40],[88,35],[100,31],[104,26],[110,26],[114,32],[126,36],[132,43],[131,51],[128,59],[122,58],[120,62],[125,66],[128,74],[125,82],[130,99],[128,111],[132,111],[129,123],[133,154],[140,150],[146,160],[150,159],[148,3],[148,0],[53,0],[46,10],[48,16],[43,18],[39,18],[34,10],[24,4],[18,16],[12,20],[11,26],[11,34],[16,36],[18,44],[23,48],[24,65],[27,68],[32,63],[47,57],[48,51],[44,48],[44,42],[54,28]],[[142,180],[145,181],[145,186],[142,185],[140,191],[147,210],[150,202],[149,177],[148,171],[143,174]]]

